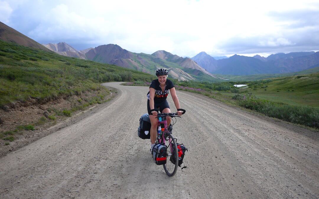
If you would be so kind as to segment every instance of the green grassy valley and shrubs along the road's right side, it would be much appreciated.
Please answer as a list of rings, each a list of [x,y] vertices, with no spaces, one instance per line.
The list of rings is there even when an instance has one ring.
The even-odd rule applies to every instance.
[[[241,82],[174,80],[174,84],[179,90],[319,129],[319,73]],[[246,84],[248,88],[237,88],[235,84]],[[130,82],[127,85],[149,86],[149,82]]]

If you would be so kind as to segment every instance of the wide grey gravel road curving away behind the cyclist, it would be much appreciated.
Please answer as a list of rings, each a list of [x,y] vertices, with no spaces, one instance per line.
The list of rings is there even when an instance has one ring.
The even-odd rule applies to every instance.
[[[148,88],[105,85],[121,91],[108,107],[1,158],[0,198],[319,197],[317,133],[177,91],[189,151],[168,177],[137,137]]]

